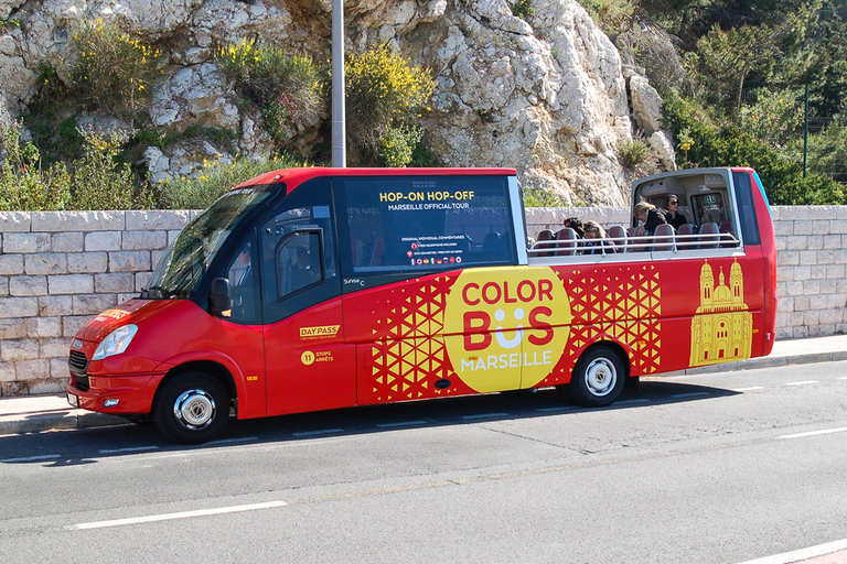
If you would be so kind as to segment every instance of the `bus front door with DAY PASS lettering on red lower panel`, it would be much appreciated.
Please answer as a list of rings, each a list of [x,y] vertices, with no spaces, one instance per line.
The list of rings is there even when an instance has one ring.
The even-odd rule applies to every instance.
[[[314,205],[321,188],[328,205]],[[259,234],[268,415],[355,403],[355,347],[344,344],[328,193],[328,183],[299,187]]]

